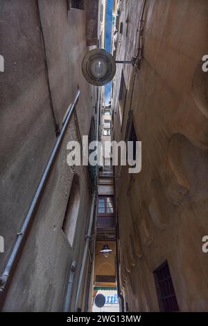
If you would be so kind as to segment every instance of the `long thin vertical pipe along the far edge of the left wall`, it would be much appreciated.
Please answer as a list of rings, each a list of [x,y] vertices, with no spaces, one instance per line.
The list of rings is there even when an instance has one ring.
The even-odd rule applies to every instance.
[[[98,140],[98,132],[99,132],[99,115],[100,115],[100,108],[98,106],[97,110],[97,121],[96,121],[96,140]],[[98,147],[96,147],[96,156],[98,160]],[[94,187],[94,193],[92,194],[92,202],[91,202],[91,208],[90,208],[90,215],[89,215],[89,226],[87,229],[87,236],[86,236],[86,242],[85,242],[85,250],[83,253],[83,261],[82,261],[82,266],[80,269],[80,276],[79,276],[79,281],[78,281],[78,288],[77,288],[77,293],[76,293],[76,302],[75,302],[75,311],[78,309],[78,300],[80,298],[80,290],[81,286],[83,284],[83,275],[85,272],[85,265],[87,261],[87,252],[88,252],[88,247],[89,247],[89,241],[92,235],[92,225],[94,222],[94,206],[95,206],[95,201],[96,201],[96,189],[97,189],[97,181],[98,181],[98,165],[96,167],[96,186]]]

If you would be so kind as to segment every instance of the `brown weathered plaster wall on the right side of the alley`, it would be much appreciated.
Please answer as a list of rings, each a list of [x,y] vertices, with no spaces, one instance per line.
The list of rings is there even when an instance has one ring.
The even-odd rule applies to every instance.
[[[122,1],[116,58],[137,55],[144,1]],[[141,69],[118,67],[114,138],[125,139],[132,110],[142,141],[142,170],[116,169],[121,282],[130,311],[157,311],[153,270],[168,261],[180,311],[207,311],[208,141],[207,1],[147,0]],[[128,37],[125,19],[129,15]],[[128,88],[121,127],[119,85]],[[129,254],[127,254],[129,252]]]

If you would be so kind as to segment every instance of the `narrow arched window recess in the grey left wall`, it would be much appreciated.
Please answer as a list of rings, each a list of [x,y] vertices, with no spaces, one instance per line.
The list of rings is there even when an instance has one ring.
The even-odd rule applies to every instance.
[[[71,247],[73,245],[73,238],[76,231],[76,222],[78,219],[78,211],[80,208],[80,186],[78,176],[75,175],[72,180],[69,199],[67,202],[67,209],[64,215],[62,230],[67,236]]]

